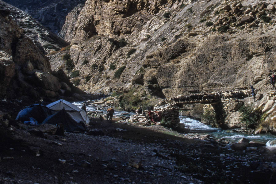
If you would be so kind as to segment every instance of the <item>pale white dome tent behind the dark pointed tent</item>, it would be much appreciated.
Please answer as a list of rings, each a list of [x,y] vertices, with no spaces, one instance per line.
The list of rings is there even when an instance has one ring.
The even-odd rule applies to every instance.
[[[80,109],[76,105],[67,102],[66,100],[60,99],[56,102],[50,103],[49,105],[46,105],[49,109],[53,111],[60,111],[64,108],[64,110],[75,120],[76,122],[83,121],[86,125],[89,124],[89,118],[86,115],[85,110]]]

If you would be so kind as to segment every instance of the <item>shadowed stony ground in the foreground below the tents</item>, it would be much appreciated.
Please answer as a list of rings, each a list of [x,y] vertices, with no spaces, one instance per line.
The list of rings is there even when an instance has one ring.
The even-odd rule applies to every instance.
[[[91,119],[64,136],[2,118],[0,183],[274,183],[275,155],[241,140]],[[244,147],[244,145],[247,145]],[[251,144],[249,146],[249,144]],[[242,148],[243,147],[243,148]],[[241,148],[241,150],[239,150]]]

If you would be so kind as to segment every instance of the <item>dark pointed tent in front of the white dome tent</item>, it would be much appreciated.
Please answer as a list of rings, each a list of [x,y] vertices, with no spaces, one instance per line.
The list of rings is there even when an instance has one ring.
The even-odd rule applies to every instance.
[[[47,117],[42,124],[48,123],[52,125],[63,124],[64,130],[67,132],[85,131],[84,122],[76,122],[63,108],[59,112]]]

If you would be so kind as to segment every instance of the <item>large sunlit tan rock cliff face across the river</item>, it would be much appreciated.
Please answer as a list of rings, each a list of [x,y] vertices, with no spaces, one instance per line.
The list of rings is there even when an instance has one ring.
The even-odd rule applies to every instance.
[[[66,33],[72,80],[90,92],[262,91],[276,71],[273,1],[88,0],[77,17]],[[51,56],[53,69],[63,55]]]

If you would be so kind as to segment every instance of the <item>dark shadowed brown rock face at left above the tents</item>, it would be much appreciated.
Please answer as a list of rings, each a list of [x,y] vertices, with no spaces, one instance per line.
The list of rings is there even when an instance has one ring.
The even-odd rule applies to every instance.
[[[48,58],[13,21],[10,10],[0,9],[0,24],[1,98],[27,95],[40,99],[71,94],[70,83],[52,75]],[[62,74],[55,72],[56,76]]]

